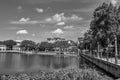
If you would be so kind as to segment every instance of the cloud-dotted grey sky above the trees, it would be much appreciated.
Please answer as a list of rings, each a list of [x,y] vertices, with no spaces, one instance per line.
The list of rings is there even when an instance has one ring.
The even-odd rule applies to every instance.
[[[92,13],[109,0],[0,0],[0,40],[50,37],[77,41],[89,29]],[[111,0],[116,5],[119,0]]]

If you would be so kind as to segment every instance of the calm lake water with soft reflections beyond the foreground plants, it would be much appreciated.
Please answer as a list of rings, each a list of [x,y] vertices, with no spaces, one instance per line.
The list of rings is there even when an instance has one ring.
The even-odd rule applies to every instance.
[[[0,74],[78,68],[78,57],[0,53]]]

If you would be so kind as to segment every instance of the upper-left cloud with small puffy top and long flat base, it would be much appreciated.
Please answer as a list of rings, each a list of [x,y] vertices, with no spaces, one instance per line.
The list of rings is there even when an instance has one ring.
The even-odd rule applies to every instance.
[[[11,24],[36,24],[40,23],[39,21],[31,21],[30,18],[21,18],[18,21],[11,21]]]

